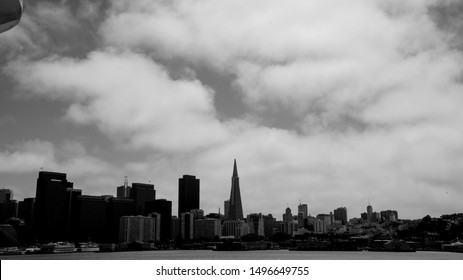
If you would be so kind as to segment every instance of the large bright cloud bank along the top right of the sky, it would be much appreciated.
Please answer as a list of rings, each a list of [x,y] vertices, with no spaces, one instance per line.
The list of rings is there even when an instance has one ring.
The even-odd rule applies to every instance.
[[[357,117],[376,123],[369,105],[403,98],[404,91],[407,101],[419,102],[415,92],[447,90],[457,75],[461,53],[448,49],[430,18],[432,5],[436,1],[116,1],[101,34],[111,46],[231,72],[252,108],[289,104],[301,119],[333,109],[341,118],[354,108]],[[384,119],[398,113],[408,121],[425,112],[398,110]]]

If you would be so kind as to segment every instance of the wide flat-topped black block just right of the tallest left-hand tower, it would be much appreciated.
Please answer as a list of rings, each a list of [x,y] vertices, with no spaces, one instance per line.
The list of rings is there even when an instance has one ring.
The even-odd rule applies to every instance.
[[[101,196],[81,195],[76,201],[76,241],[109,242],[109,199]]]

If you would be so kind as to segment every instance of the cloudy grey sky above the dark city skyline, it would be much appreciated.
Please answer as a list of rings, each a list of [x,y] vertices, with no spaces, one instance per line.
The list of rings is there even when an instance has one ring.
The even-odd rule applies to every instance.
[[[0,188],[124,176],[223,213],[463,212],[459,0],[25,1],[0,34]]]

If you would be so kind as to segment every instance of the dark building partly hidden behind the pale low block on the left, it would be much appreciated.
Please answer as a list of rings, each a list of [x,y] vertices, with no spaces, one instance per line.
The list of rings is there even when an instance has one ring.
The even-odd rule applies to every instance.
[[[111,243],[119,242],[119,225],[122,216],[135,215],[135,200],[127,198],[108,198],[108,212],[107,212],[107,240]]]

